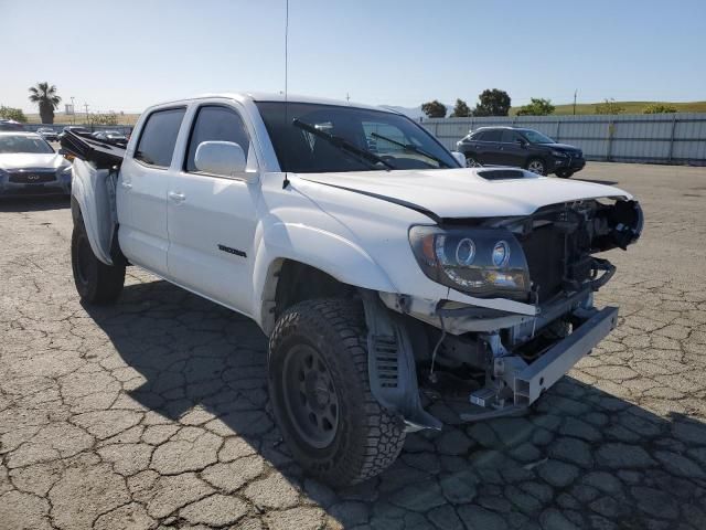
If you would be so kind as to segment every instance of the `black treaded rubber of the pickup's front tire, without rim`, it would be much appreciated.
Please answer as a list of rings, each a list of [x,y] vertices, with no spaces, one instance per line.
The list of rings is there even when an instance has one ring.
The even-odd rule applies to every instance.
[[[297,344],[317,350],[338,396],[336,432],[322,448],[300,436],[293,425],[297,420],[287,412],[282,367]],[[405,442],[404,422],[371,393],[360,301],[318,299],[289,308],[270,337],[268,368],[275,418],[295,459],[309,474],[333,487],[344,487],[372,478],[395,462]]]

